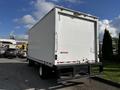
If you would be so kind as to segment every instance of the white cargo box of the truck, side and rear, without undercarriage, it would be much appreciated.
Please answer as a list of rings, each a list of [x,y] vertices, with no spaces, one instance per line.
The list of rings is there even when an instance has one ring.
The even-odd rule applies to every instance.
[[[55,8],[29,31],[28,57],[55,65],[95,62],[96,21]]]

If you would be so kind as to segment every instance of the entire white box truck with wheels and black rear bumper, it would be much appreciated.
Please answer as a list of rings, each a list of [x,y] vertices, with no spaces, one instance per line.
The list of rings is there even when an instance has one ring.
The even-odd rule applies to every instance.
[[[29,65],[38,63],[44,78],[51,72],[57,76],[90,74],[91,65],[101,65],[97,23],[90,14],[53,8],[28,32]]]

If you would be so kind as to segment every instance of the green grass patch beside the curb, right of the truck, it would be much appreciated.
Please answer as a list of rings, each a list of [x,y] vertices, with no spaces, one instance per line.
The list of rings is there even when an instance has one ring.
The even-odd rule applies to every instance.
[[[118,63],[105,64],[103,78],[120,83],[120,64]]]

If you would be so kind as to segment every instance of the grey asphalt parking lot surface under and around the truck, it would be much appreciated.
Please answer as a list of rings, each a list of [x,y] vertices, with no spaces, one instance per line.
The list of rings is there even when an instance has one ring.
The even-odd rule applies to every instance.
[[[0,90],[120,90],[89,78],[58,84],[56,79],[43,80],[37,69],[25,59],[0,58]]]

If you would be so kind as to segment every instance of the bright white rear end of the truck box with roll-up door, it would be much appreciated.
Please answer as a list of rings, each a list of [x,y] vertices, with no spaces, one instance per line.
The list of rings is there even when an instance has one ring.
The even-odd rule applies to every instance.
[[[96,20],[88,17],[82,19],[68,11],[58,10],[58,12],[56,16],[56,54],[58,58],[55,64],[94,63],[97,58],[95,54]]]

